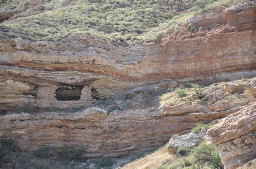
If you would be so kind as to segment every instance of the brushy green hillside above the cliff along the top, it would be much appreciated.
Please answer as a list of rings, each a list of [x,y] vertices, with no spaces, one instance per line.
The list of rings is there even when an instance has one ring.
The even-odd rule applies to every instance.
[[[14,10],[28,2],[30,1],[6,0],[1,4],[0,10]],[[90,34],[115,45],[130,46],[143,41],[156,41],[186,18],[202,12],[196,5],[191,5],[190,9],[178,9],[173,5],[127,1],[75,1],[68,6],[63,6],[60,2],[41,0],[43,12],[27,15],[31,12],[28,9],[17,14],[17,19],[5,20],[0,24],[0,29],[7,33],[14,32],[11,33],[12,37],[32,41],[58,41],[71,35]],[[244,0],[209,1],[206,11],[242,2]]]

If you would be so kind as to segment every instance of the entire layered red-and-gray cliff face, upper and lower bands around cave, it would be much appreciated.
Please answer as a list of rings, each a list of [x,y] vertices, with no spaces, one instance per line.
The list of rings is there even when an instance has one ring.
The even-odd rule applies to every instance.
[[[248,101],[231,103],[221,97],[212,105],[188,102],[109,114],[95,107],[80,109],[173,79],[180,83],[255,76],[255,10],[252,2],[192,17],[157,44],[132,47],[92,36],[57,42],[13,39],[11,30],[2,30],[0,137],[15,138],[25,151],[82,144],[90,145],[89,157],[124,156],[162,145],[195,123],[237,112]],[[188,32],[191,26],[194,30]]]

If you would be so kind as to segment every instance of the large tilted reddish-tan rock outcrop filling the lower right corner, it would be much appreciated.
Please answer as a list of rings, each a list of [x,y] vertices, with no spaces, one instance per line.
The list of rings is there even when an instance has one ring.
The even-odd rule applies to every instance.
[[[236,168],[256,157],[255,100],[238,112],[225,117],[208,130],[225,168]]]

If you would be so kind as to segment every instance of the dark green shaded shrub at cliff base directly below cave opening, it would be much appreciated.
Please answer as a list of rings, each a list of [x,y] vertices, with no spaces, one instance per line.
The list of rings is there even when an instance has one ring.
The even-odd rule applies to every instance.
[[[60,157],[67,160],[77,160],[83,157],[87,147],[84,146],[64,146],[60,151]]]

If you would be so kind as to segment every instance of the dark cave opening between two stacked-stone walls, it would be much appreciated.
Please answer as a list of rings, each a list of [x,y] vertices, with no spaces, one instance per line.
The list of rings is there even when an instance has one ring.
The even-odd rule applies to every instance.
[[[66,86],[62,85],[55,91],[55,97],[60,101],[79,100],[84,86]]]

